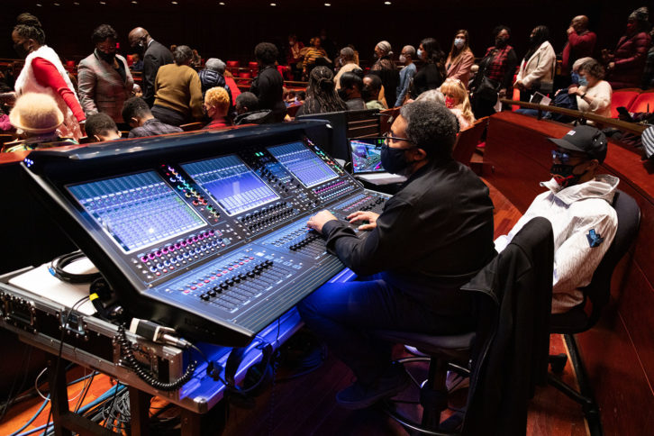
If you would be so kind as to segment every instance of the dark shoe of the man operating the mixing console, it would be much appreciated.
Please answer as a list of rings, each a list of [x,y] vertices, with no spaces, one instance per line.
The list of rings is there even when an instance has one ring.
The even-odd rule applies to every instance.
[[[395,366],[394,366],[395,367]],[[390,398],[404,391],[411,384],[411,377],[403,367],[392,368],[371,386],[356,381],[336,394],[336,402],[346,409],[365,409],[378,401]]]

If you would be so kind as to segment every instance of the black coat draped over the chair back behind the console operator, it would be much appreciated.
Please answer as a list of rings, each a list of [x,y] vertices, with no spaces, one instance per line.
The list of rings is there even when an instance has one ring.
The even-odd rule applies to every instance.
[[[477,350],[463,434],[522,435],[527,403],[547,381],[554,236],[532,219],[467,285],[477,293]]]

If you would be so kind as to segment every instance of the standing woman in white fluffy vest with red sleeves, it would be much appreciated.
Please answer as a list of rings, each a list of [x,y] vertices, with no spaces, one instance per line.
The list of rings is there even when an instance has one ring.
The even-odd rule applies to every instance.
[[[59,126],[60,136],[79,141],[84,136],[79,124],[86,121],[86,115],[66,69],[57,53],[45,45],[45,32],[38,18],[32,14],[20,14],[16,21],[12,32],[14,50],[25,59],[23,70],[14,83],[16,95],[39,93],[52,96],[64,114],[64,121]]]

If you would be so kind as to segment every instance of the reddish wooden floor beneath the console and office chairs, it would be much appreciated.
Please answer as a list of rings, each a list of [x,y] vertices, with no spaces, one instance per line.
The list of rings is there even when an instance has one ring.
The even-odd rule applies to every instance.
[[[491,197],[495,204],[495,236],[508,232],[520,213],[493,186]],[[552,335],[550,354],[566,353],[567,350],[559,335]],[[406,354],[401,346],[395,348],[395,354]],[[416,366],[417,372],[424,372],[425,366]],[[284,366],[277,371],[277,377],[286,377],[289,373]],[[81,368],[68,379],[74,380],[83,375]],[[568,362],[563,379],[574,386],[574,372]],[[332,436],[332,435],[405,435],[404,428],[392,421],[384,413],[375,408],[363,411],[348,411],[340,408],[334,395],[353,381],[350,370],[332,355],[327,354],[322,366],[303,376],[286,381],[277,381],[271,388],[256,400],[254,409],[239,409],[232,407],[229,420],[224,429],[225,436]],[[32,381],[33,383],[33,381]],[[95,377],[86,395],[85,404],[102,395],[112,382],[109,377]],[[83,387],[83,382],[68,389],[74,398]],[[47,392],[47,384],[41,385],[41,390]],[[452,395],[450,407],[457,408],[465,403],[465,390]],[[413,395],[413,394],[407,394]],[[0,401],[5,400],[5,395]],[[70,404],[76,404],[71,400]],[[42,404],[39,397],[25,400],[14,405],[0,422],[0,434],[11,434],[20,429]],[[412,406],[405,406],[409,411]],[[417,411],[417,408],[413,408]],[[49,408],[46,407],[24,431],[43,425],[48,418]],[[38,433],[34,433],[38,434]],[[587,434],[586,423],[581,407],[562,395],[556,389],[540,387],[531,400],[528,417],[527,434],[532,436],[582,436]]]

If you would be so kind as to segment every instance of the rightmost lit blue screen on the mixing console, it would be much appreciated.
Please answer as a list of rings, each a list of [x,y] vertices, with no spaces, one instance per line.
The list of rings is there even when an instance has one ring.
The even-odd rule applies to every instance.
[[[268,151],[306,187],[320,185],[338,175],[302,142],[293,142]]]

